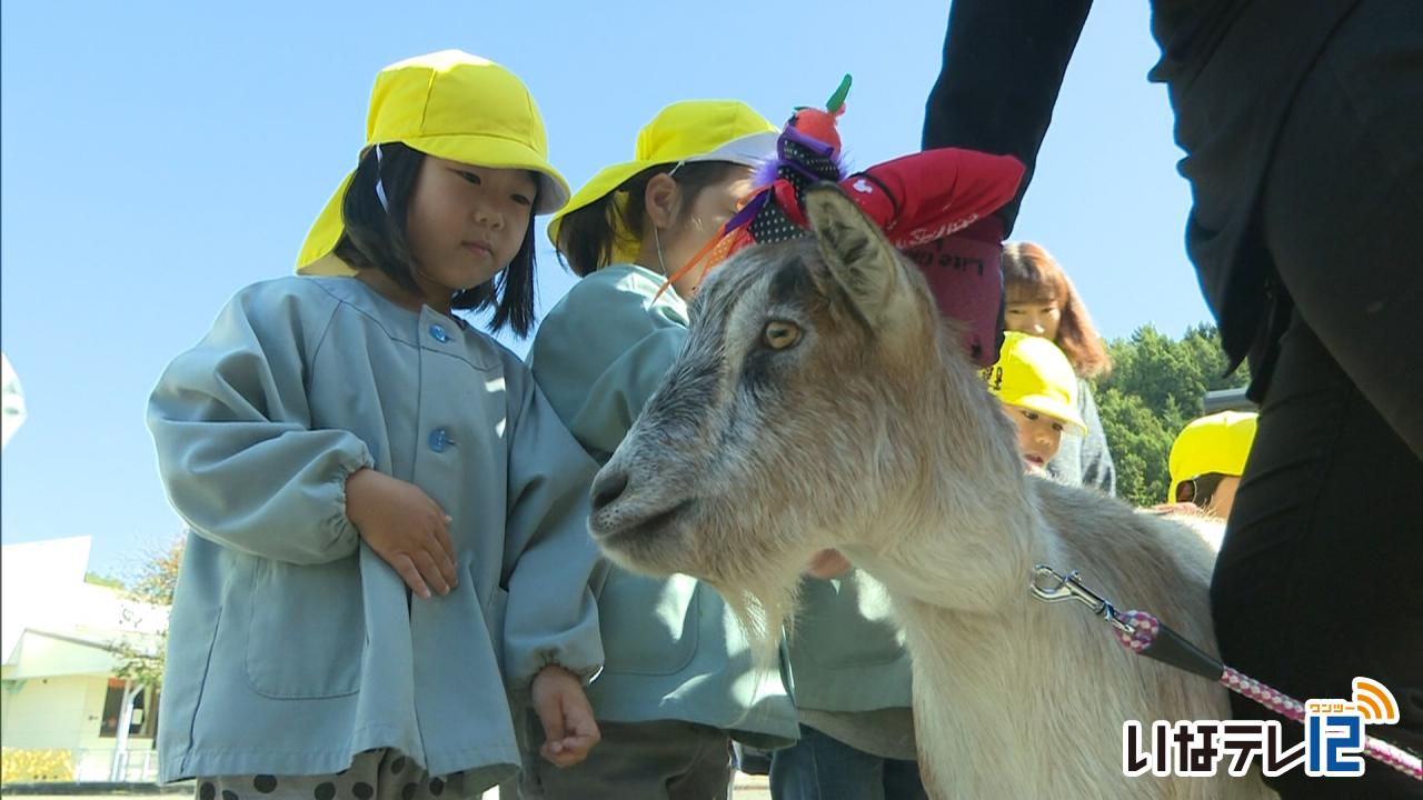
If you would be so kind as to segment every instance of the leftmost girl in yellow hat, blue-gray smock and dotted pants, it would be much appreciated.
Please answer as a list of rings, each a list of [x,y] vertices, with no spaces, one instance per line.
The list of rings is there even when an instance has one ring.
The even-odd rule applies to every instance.
[[[196,777],[202,800],[474,797],[519,766],[505,685],[551,762],[598,740],[593,464],[454,315],[528,330],[531,216],[565,198],[512,73],[453,50],[393,64],[307,278],[240,290],[164,373],[148,423],[195,535],[162,780]]]

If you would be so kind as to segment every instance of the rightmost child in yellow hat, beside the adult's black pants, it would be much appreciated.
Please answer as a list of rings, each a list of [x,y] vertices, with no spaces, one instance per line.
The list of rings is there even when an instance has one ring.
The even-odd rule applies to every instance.
[[[1171,444],[1167,501],[1190,502],[1207,517],[1228,520],[1258,419],[1254,413],[1221,411],[1188,423]]]

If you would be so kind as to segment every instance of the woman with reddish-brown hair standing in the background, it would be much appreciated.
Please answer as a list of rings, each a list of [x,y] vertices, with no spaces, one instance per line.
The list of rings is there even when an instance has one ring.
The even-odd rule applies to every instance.
[[[1089,383],[1110,370],[1111,360],[1091,326],[1087,306],[1062,265],[1033,242],[1003,245],[1003,296],[1005,327],[1057,344],[1077,373],[1077,419],[1086,421],[1089,430],[1083,437],[1063,441],[1047,473],[1059,483],[1116,494],[1117,473]]]

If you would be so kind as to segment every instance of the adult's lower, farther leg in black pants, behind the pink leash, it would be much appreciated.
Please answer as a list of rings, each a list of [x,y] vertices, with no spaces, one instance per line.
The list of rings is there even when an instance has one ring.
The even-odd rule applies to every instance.
[[[1296,315],[1262,407],[1215,565],[1221,656],[1301,700],[1387,686],[1397,726],[1369,735],[1423,750],[1423,463]],[[1241,719],[1281,719],[1232,696]],[[1302,726],[1284,720],[1286,746]],[[1365,780],[1272,779],[1282,797],[1393,797],[1410,783],[1370,763]],[[1419,787],[1412,786],[1413,790]],[[1392,791],[1392,794],[1390,794]]]

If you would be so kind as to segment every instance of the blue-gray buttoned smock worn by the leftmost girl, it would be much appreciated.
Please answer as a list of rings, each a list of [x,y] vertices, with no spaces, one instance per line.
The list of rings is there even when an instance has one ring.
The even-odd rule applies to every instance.
[[[161,780],[329,774],[394,747],[478,790],[515,773],[508,688],[602,665],[593,464],[491,337],[353,278],[239,292],[154,390],[188,538]],[[346,517],[361,467],[453,517],[458,586],[411,598]]]

